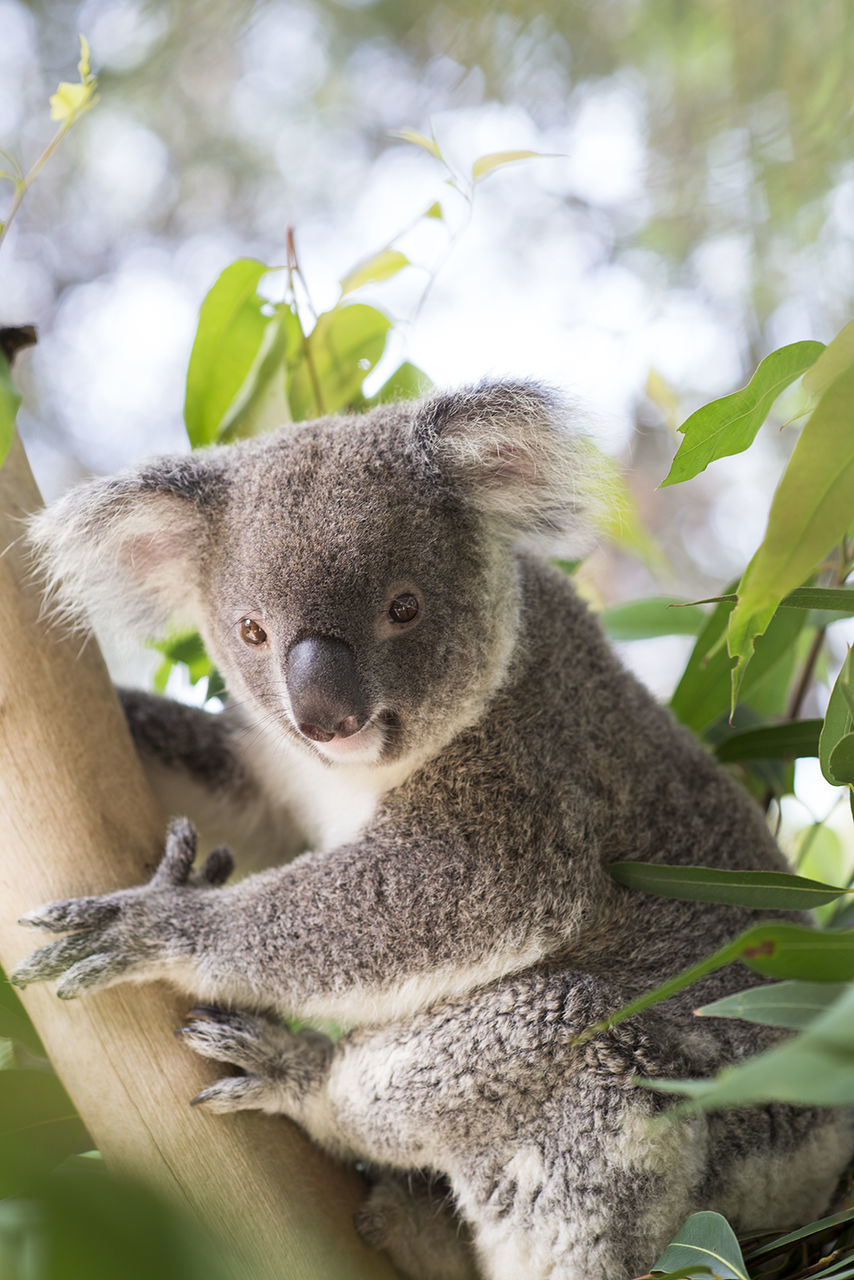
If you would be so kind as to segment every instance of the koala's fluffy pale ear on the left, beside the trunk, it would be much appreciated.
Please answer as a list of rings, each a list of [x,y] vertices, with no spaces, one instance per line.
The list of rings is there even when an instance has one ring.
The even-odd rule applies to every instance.
[[[37,512],[28,535],[49,612],[147,635],[189,621],[223,485],[218,451],[155,458]]]

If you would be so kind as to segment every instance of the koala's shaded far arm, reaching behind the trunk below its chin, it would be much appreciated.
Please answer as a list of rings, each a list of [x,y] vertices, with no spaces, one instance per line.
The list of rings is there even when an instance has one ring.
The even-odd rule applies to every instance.
[[[137,754],[166,814],[187,814],[206,846],[236,850],[242,869],[287,861],[306,847],[284,804],[266,795],[247,767],[252,731],[241,708],[220,714],[137,689],[119,689]]]

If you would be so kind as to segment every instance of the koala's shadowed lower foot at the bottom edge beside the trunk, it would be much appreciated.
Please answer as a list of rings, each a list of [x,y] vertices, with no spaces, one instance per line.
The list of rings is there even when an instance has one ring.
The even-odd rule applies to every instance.
[[[408,1280],[479,1280],[465,1224],[444,1181],[429,1174],[387,1174],[353,1219],[375,1249],[384,1249]]]

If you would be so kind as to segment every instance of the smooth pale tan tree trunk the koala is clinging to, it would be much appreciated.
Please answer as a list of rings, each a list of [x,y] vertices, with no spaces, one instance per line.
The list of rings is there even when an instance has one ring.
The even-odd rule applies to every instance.
[[[165,829],[97,645],[38,620],[20,516],[40,503],[18,440],[0,470],[0,963],[41,941],[15,922],[50,899],[147,878]],[[359,1240],[364,1188],[284,1119],[188,1100],[224,1070],[173,1037],[187,1001],[160,983],[27,1010],[108,1164],[188,1206],[234,1249],[236,1280],[391,1280]]]

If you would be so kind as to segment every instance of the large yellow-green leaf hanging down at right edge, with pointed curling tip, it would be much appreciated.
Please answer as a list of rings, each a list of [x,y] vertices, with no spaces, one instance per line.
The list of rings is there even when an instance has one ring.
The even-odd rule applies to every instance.
[[[809,577],[854,522],[854,366],[832,383],[807,421],[775,493],[768,527],[739,586],[727,644],[736,667],[732,704],[755,637],[780,600]]]

